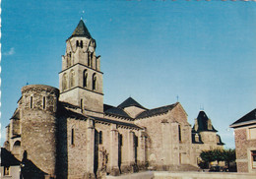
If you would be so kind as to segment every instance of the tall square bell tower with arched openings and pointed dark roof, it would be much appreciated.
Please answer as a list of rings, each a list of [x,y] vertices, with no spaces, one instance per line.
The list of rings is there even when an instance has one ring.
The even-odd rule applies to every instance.
[[[80,106],[82,111],[103,112],[102,76],[96,40],[81,20],[66,40],[59,73],[60,100]]]

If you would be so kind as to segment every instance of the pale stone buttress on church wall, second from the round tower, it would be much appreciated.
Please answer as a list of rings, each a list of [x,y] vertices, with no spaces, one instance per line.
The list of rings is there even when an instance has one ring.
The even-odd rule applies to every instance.
[[[116,124],[111,124],[110,131],[110,174],[119,175],[118,167],[118,131],[116,129]]]

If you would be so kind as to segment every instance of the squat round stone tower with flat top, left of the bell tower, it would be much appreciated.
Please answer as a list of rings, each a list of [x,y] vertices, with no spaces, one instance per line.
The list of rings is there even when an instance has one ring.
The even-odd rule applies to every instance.
[[[58,89],[49,86],[30,85],[22,89],[22,98],[19,102],[23,159],[32,161],[42,172],[52,177],[56,175],[58,97]],[[25,165],[25,167],[28,166]]]

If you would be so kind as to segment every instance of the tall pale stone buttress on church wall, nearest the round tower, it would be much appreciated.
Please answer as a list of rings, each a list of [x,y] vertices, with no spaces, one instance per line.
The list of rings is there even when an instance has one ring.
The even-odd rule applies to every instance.
[[[95,178],[95,126],[92,119],[87,120],[87,177]]]

